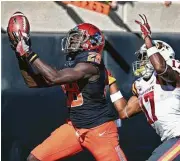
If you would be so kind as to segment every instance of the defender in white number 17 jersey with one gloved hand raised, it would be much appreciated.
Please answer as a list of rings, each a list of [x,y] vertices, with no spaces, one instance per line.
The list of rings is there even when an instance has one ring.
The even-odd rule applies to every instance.
[[[141,27],[145,44],[136,52],[133,72],[138,78],[132,85],[132,96],[124,98],[116,84],[110,88],[111,100],[121,119],[143,111],[148,122],[161,137],[162,144],[148,161],[180,161],[180,62],[170,45],[151,39],[145,15]],[[118,92],[117,92],[118,91]]]

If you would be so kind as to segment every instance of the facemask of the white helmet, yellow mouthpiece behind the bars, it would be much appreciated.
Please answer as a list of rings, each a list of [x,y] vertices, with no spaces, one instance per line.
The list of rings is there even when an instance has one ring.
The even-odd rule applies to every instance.
[[[137,77],[148,79],[151,77],[154,68],[147,57],[147,52],[139,50],[135,53],[138,61],[132,63],[133,74]]]

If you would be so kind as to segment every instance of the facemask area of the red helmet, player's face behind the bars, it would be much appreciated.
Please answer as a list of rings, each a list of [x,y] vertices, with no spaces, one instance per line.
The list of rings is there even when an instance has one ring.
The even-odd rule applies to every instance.
[[[71,30],[66,37],[62,39],[62,51],[65,53],[82,51],[84,42],[89,39],[84,30]]]

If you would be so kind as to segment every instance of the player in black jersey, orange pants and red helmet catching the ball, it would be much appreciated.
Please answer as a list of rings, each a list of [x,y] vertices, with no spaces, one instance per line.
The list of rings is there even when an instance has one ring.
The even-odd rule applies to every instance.
[[[8,25],[21,74],[30,88],[62,85],[69,108],[69,121],[34,148],[27,160],[54,161],[87,148],[97,161],[125,161],[104,94],[108,75],[101,59],[105,42],[102,32],[89,23],[71,29],[62,40],[64,68],[56,70],[31,49],[30,36],[24,31],[27,23],[22,13],[16,13]]]

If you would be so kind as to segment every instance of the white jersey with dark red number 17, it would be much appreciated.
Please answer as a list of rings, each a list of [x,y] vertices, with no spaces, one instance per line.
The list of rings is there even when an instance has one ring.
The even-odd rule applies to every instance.
[[[171,65],[172,68],[180,73],[180,63],[171,62],[177,65],[176,69]],[[148,122],[163,141],[180,136],[180,88],[165,81],[160,85],[156,75],[153,73],[148,81],[139,78],[133,88]]]

